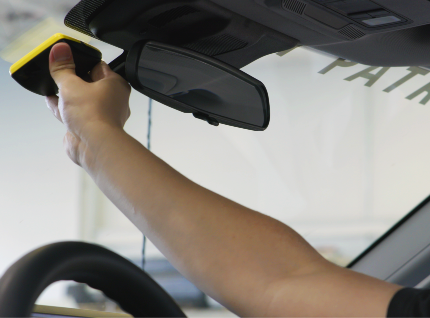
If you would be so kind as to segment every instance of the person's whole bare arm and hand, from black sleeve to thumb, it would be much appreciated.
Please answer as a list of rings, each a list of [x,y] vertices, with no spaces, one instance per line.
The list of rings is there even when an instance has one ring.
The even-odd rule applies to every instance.
[[[64,146],[104,194],[201,290],[241,317],[384,318],[401,286],[338,267],[279,221],[209,191],[124,130],[130,86],[105,63],[76,76],[70,48],[49,57]]]

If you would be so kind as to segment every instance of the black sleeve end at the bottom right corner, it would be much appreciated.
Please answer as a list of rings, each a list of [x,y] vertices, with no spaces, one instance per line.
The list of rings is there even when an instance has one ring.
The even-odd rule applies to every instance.
[[[399,290],[390,302],[387,318],[430,318],[430,290]]]

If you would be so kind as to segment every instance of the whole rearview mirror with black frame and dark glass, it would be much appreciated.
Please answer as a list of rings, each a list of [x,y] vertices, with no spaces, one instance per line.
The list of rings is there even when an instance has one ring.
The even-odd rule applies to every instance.
[[[126,77],[137,91],[209,124],[264,130],[270,119],[263,83],[215,58],[155,41],[135,43]]]

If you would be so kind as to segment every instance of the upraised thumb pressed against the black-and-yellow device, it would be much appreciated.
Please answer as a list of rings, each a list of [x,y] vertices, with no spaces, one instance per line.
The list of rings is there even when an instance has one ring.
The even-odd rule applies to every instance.
[[[67,43],[57,43],[49,54],[49,71],[58,88],[76,78],[72,50]]]

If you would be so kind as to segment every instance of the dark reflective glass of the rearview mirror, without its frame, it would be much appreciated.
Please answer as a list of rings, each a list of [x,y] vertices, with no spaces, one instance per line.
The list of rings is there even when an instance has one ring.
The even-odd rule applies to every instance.
[[[261,88],[209,63],[147,44],[138,62],[140,84],[202,112],[264,125]]]

